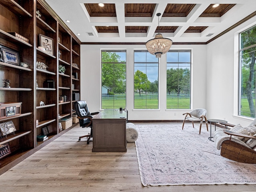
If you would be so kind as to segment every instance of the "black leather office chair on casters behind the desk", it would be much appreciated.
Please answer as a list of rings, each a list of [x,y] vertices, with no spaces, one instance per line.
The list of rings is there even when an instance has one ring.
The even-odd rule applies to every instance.
[[[87,135],[80,136],[78,141],[81,140],[81,138],[88,137],[87,144],[90,142],[90,138],[92,138],[92,115],[96,115],[99,112],[90,113],[86,101],[76,101],[74,102],[74,107],[76,109],[77,118],[79,119],[80,127],[90,127],[91,132]]]

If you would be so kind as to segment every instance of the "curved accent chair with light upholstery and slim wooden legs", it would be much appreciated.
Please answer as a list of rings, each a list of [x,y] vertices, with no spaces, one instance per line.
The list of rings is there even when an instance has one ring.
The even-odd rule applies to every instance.
[[[201,128],[202,128],[202,123],[205,122],[206,123],[206,128],[208,131],[208,122],[207,122],[207,110],[206,109],[202,109],[202,108],[198,108],[198,109],[194,109],[192,111],[190,111],[189,113],[184,113],[183,115],[186,115],[182,124],[182,130],[184,127],[184,123],[186,120],[189,120],[192,122],[192,125],[194,127],[194,122],[200,122],[200,128],[199,128],[199,134],[201,134]]]

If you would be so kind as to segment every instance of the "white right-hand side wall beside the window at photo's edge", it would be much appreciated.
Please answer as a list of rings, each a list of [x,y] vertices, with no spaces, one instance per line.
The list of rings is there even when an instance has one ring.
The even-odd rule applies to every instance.
[[[206,105],[208,119],[225,119],[247,126],[251,119],[238,117],[238,33],[256,24],[256,17],[207,44]]]

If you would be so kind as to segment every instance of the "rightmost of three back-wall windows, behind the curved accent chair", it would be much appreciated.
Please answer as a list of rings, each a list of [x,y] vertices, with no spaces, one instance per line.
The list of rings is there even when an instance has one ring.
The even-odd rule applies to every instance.
[[[190,109],[191,51],[167,52],[167,109]]]

